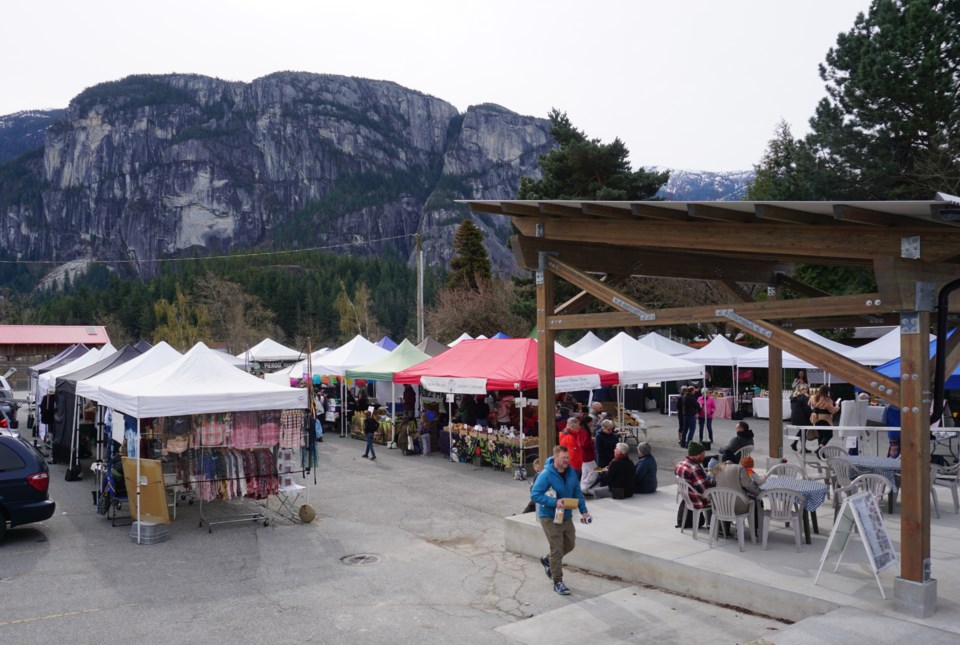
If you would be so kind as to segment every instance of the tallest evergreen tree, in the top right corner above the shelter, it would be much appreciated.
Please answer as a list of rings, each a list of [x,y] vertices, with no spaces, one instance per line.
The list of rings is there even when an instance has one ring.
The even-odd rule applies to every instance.
[[[960,187],[960,2],[873,0],[820,66],[817,198],[929,199]]]

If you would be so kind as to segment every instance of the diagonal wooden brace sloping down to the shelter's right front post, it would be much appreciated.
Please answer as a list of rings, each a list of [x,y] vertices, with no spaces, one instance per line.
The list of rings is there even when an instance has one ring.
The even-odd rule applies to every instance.
[[[869,367],[856,363],[846,356],[841,356],[826,347],[817,345],[803,336],[797,336],[782,327],[763,320],[746,320],[742,317],[742,314],[727,319],[726,322],[728,325],[732,325],[741,331],[755,336],[769,345],[789,352],[797,358],[812,363],[830,374],[839,376],[848,383],[852,383],[860,389],[874,394],[889,403],[896,403],[900,398],[900,384],[897,381],[882,376]],[[773,394],[774,393],[771,392],[771,396]],[[779,396],[779,392],[776,393],[776,395]]]

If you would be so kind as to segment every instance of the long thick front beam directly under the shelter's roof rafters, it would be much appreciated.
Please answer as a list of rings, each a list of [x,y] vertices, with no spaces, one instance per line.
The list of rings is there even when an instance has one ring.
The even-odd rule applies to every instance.
[[[686,213],[683,216],[687,217]],[[514,217],[513,223],[523,235],[534,235],[534,220]],[[622,222],[583,219],[548,220],[544,226],[544,237],[549,240],[581,244],[609,244],[616,240],[620,246],[730,253],[820,264],[862,264],[877,258],[899,257],[900,240],[905,234],[920,236],[922,259],[927,262],[954,257],[960,248],[960,230],[951,227],[911,230],[847,224],[791,226],[758,222],[733,226],[704,221]]]

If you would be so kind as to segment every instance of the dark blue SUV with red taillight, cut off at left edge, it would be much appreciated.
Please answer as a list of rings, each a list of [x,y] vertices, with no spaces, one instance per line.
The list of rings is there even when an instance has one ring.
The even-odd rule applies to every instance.
[[[43,456],[20,437],[0,435],[0,541],[8,526],[50,519],[57,505],[49,486]]]

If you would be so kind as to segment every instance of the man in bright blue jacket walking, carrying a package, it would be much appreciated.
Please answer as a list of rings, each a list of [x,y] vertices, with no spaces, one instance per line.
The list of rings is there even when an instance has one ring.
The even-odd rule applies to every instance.
[[[553,490],[555,497],[547,495]],[[576,530],[573,526],[573,511],[563,510],[563,521],[557,523],[557,505],[563,505],[563,500],[575,499],[580,510],[580,521],[589,523],[590,513],[587,512],[587,502],[583,499],[580,490],[580,479],[570,468],[570,453],[566,446],[556,446],[553,457],[547,459],[543,470],[537,475],[533,487],[530,489],[530,499],[537,504],[537,519],[547,536],[550,545],[550,555],[540,558],[547,577],[553,580],[553,590],[562,596],[570,594],[570,589],[563,583],[563,556],[573,551],[576,542]]]

